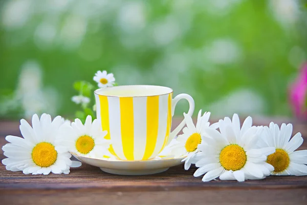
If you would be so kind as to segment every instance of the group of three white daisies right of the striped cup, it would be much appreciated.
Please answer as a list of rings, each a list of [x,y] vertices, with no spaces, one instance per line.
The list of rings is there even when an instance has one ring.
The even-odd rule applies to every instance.
[[[300,133],[292,138],[292,125],[252,126],[247,117],[240,127],[237,114],[210,125],[210,113],[198,114],[196,126],[185,115],[187,127],[171,146],[174,157],[186,156],[185,169],[198,169],[194,176],[203,181],[244,181],[268,175],[307,175],[307,150],[295,151],[303,143]],[[290,139],[291,138],[291,139]]]

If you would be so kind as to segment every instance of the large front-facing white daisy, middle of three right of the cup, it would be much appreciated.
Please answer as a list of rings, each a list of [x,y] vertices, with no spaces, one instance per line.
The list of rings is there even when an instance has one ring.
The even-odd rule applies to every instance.
[[[198,146],[194,176],[203,174],[203,181],[217,177],[221,180],[261,179],[270,175],[273,166],[266,163],[267,156],[275,152],[274,147],[257,149],[257,141],[262,127],[252,127],[252,118],[248,117],[240,128],[237,114],[218,122],[220,132],[212,128],[204,130],[205,139]]]

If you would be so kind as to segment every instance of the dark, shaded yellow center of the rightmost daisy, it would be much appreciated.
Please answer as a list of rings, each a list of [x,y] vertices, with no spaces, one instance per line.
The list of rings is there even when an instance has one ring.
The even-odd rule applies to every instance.
[[[290,158],[283,149],[276,149],[273,154],[268,156],[267,162],[274,167],[274,172],[282,172],[288,168]]]

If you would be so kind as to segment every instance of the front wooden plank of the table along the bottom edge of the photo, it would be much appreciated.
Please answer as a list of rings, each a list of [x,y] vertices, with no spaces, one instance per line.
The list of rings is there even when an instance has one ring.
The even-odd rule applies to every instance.
[[[193,205],[289,205],[306,204],[306,189],[283,190],[195,190],[165,192],[111,192],[100,190],[38,190],[32,192],[6,193],[2,204],[193,204]]]

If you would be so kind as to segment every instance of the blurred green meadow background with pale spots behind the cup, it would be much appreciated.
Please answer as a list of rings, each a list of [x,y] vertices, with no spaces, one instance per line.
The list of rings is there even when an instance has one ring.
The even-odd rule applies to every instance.
[[[306,1],[0,4],[1,118],[73,117],[74,81],[96,86],[98,70],[119,85],[188,93],[196,112],[213,116],[292,115],[287,89],[306,59]],[[186,102],[176,114],[184,111]]]

